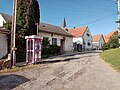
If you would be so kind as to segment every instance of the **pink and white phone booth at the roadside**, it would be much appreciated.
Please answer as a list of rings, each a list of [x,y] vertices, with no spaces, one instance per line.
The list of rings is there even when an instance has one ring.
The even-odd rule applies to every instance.
[[[25,36],[26,39],[26,63],[36,64],[41,59],[42,37],[37,35]]]

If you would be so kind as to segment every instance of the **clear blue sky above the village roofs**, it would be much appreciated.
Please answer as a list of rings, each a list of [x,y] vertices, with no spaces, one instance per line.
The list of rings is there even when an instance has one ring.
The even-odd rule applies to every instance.
[[[92,34],[117,29],[117,4],[113,0],[38,0],[41,22],[67,28],[89,26]],[[12,14],[13,0],[0,0],[0,12]]]

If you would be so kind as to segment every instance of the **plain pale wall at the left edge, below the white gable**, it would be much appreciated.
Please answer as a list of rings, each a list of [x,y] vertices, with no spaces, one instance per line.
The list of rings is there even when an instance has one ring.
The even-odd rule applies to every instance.
[[[0,34],[0,58],[7,55],[8,53],[8,47],[7,47],[7,35],[6,34]]]

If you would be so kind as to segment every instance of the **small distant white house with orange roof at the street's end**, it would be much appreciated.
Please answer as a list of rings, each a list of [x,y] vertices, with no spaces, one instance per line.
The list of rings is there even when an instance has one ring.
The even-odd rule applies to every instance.
[[[102,34],[93,35],[93,49],[99,50],[101,49],[102,45],[105,43],[104,37]]]

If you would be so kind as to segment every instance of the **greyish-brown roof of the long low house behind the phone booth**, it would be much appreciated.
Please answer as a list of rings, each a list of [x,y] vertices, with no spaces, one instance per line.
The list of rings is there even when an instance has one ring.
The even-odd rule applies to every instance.
[[[46,23],[39,24],[39,31],[73,37],[73,35],[71,35],[69,32],[67,32],[63,28],[55,25],[46,24]]]

